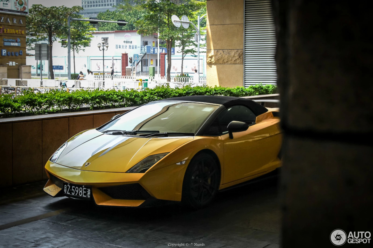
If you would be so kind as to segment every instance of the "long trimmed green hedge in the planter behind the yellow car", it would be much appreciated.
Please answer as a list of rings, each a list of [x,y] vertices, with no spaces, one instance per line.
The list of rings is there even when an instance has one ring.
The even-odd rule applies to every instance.
[[[257,84],[248,88],[186,86],[173,89],[159,86],[156,88],[145,88],[141,91],[96,89],[76,90],[71,92],[52,90],[47,93],[34,93],[32,90],[28,90],[16,97],[11,94],[2,94],[0,97],[0,117],[139,106],[154,100],[179,96],[255,96],[274,93],[277,93],[277,87],[270,84]]]

